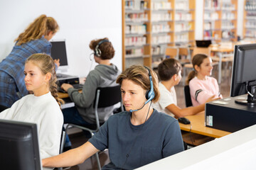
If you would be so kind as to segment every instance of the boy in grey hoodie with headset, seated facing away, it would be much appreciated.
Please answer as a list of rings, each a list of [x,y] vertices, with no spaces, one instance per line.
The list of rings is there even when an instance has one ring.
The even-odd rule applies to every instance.
[[[90,126],[95,124],[95,113],[93,101],[97,87],[117,86],[115,82],[120,74],[117,66],[110,60],[114,57],[114,47],[108,38],[92,40],[90,49],[94,51],[94,59],[98,65],[89,72],[85,84],[82,87],[82,93],[74,89],[70,84],[62,84],[61,88],[68,92],[70,99],[75,103],[73,108],[63,109],[64,123],[73,123],[76,125]],[[114,110],[113,106],[99,108],[98,115],[100,123],[104,123]],[[66,149],[71,147],[68,136],[65,142]]]

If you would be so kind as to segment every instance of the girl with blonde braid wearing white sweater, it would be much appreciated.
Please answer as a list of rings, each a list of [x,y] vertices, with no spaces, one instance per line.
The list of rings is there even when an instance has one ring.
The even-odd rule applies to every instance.
[[[1,119],[36,123],[41,158],[59,154],[63,114],[55,64],[49,55],[34,54],[25,63],[26,89],[31,92],[0,113]],[[33,93],[33,94],[32,94]]]

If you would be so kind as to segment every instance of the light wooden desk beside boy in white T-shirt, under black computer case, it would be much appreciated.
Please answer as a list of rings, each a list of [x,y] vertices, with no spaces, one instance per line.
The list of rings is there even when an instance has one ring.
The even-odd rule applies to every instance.
[[[193,133],[197,133],[197,134],[205,135],[209,137],[215,137],[215,138],[223,137],[231,133],[223,130],[217,130],[217,129],[206,127],[204,125],[205,124],[204,111],[196,115],[188,115],[186,116],[186,118],[188,118],[191,121],[191,125],[184,125],[182,123],[178,123],[181,127],[181,130],[185,130],[188,132],[193,132]]]

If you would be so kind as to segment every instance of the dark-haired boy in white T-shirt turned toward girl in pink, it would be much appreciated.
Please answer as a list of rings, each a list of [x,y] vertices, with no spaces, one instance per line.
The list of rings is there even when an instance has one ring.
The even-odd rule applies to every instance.
[[[160,98],[157,103],[153,103],[153,108],[162,113],[167,113],[175,118],[183,118],[186,115],[195,115],[205,109],[205,103],[188,108],[179,108],[177,106],[176,86],[181,81],[181,63],[175,59],[166,59],[158,67]],[[216,100],[215,96],[208,98],[207,102]]]

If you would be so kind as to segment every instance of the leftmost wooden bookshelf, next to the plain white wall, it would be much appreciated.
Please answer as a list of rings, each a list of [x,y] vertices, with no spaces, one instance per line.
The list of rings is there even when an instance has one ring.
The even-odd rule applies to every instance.
[[[122,0],[122,69],[152,67],[167,46],[193,45],[194,0]]]

